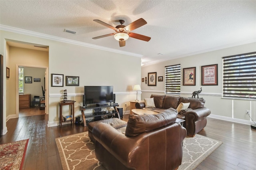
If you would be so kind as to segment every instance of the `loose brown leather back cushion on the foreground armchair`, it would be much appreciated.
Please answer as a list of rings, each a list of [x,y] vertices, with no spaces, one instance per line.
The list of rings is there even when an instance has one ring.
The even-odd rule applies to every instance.
[[[138,134],[172,124],[176,121],[176,118],[177,111],[173,108],[166,109],[156,115],[130,115],[125,135],[137,136]]]

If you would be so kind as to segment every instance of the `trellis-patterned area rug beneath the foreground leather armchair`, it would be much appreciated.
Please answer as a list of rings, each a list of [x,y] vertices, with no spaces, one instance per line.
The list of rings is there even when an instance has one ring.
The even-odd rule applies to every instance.
[[[63,170],[106,170],[95,157],[94,143],[88,132],[56,138]],[[196,134],[183,141],[183,157],[179,170],[193,170],[222,142]]]

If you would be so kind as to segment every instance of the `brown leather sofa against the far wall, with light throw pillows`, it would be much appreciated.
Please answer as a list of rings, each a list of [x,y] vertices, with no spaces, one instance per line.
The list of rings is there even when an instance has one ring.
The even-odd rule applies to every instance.
[[[206,127],[206,117],[210,115],[210,109],[204,107],[205,100],[197,98],[170,96],[170,95],[154,95],[154,103],[156,107],[145,107],[144,101],[139,101],[135,104],[137,109],[146,109],[154,112],[161,112],[168,108],[177,109],[180,103],[190,103],[188,108],[193,109],[192,111],[186,112],[184,115],[178,113],[179,119],[185,120],[185,128],[189,136],[195,136],[200,130]]]

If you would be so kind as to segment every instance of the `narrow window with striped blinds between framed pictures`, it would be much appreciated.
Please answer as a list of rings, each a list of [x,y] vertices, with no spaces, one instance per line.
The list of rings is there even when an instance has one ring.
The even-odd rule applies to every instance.
[[[165,93],[180,94],[180,64],[165,66]]]

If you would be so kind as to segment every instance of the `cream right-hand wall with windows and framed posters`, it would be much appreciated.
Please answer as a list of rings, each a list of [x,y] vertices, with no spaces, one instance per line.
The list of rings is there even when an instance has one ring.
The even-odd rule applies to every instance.
[[[164,76],[165,66],[180,64],[181,96],[192,97],[192,92],[200,90],[200,87],[202,87],[200,97],[206,100],[205,106],[211,110],[211,117],[251,124],[250,118],[245,114],[245,111],[250,110],[252,119],[256,120],[256,101],[222,99],[222,57],[253,51],[256,51],[256,43],[172,59],[154,65],[143,66],[141,77],[147,77],[149,72],[157,72],[157,77]],[[201,85],[201,66],[211,64],[218,64],[218,85]],[[183,68],[189,67],[196,67],[196,86],[182,85]],[[156,86],[148,86],[148,84],[142,82],[141,99],[150,97],[152,93],[164,94],[164,85],[164,81],[157,82]],[[154,89],[150,89],[150,87],[154,87]]]

